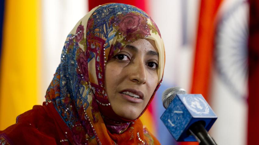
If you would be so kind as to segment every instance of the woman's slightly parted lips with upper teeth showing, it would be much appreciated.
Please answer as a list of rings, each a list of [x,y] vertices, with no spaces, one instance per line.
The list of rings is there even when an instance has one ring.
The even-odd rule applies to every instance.
[[[144,95],[142,92],[134,90],[134,89],[125,89],[120,92],[121,96],[132,102],[132,103],[142,103]]]

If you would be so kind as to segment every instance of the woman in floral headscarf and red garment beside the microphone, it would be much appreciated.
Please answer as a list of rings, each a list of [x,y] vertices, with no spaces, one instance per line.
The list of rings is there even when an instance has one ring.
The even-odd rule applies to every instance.
[[[162,82],[160,32],[125,4],[92,9],[69,33],[46,102],[0,131],[2,144],[159,144],[139,117]]]

